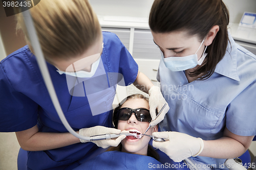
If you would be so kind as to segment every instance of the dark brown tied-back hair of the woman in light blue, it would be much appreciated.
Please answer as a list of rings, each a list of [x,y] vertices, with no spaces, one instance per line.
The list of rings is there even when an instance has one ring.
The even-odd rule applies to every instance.
[[[199,80],[208,79],[226,53],[228,44],[227,25],[229,14],[222,0],[155,0],[153,3],[149,25],[155,33],[187,31],[189,35],[198,35],[201,41],[210,29],[220,27],[215,39],[207,47],[207,60],[190,76]]]

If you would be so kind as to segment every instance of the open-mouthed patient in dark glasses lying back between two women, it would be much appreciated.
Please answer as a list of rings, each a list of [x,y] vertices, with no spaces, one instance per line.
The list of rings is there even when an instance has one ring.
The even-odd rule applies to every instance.
[[[130,133],[144,133],[151,122],[149,109],[148,99],[144,95],[128,96],[126,101],[114,111],[113,123],[115,128]],[[157,130],[157,126],[155,126],[150,128],[146,134],[152,135]],[[117,147],[109,148],[108,152],[97,155],[75,169],[87,169],[88,167],[100,170],[152,169],[153,165],[163,165],[158,161],[157,152],[148,144],[150,139],[148,136],[143,136],[140,139],[127,136]]]

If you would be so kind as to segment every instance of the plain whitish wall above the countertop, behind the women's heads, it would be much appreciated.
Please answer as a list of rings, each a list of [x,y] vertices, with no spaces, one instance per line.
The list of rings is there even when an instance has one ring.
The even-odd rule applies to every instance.
[[[154,0],[89,0],[97,15],[148,17]],[[256,13],[256,0],[223,0],[230,22],[239,23],[244,12]]]

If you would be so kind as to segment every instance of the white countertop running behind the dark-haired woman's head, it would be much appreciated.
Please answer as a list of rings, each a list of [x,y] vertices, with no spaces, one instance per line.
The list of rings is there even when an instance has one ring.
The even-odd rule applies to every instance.
[[[98,19],[101,27],[150,29],[148,18],[98,15]],[[239,23],[229,23],[228,28],[235,40],[256,44],[256,29],[241,27]]]

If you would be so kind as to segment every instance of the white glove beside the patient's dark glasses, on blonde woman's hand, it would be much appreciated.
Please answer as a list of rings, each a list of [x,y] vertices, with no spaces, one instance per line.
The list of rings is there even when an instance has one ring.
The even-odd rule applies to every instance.
[[[169,110],[168,103],[163,98],[162,92],[159,87],[153,86],[148,90],[148,94],[150,94],[150,99],[148,100],[148,103],[150,104],[150,114],[152,117],[152,122],[150,123],[151,126],[157,125],[159,122],[161,122],[165,116],[165,114]],[[158,112],[162,109],[163,105],[166,104],[165,108],[161,112],[161,114],[156,118],[156,108]]]

